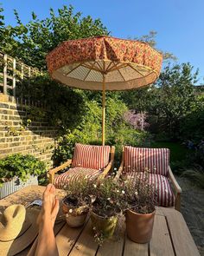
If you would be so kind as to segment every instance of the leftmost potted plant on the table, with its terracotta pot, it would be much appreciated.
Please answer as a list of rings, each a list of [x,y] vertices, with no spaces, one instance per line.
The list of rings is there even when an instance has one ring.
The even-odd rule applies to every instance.
[[[68,226],[78,227],[85,223],[92,203],[89,196],[91,186],[92,181],[80,178],[64,187],[66,196],[62,200],[62,211],[65,213]]]

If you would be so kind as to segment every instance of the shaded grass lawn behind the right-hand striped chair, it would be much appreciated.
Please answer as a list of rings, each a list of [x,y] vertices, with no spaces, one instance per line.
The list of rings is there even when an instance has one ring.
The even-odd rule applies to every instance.
[[[151,142],[151,148],[169,148],[170,161],[182,161],[186,158],[186,155],[189,152],[189,149],[185,148],[180,143],[169,142],[169,141]]]

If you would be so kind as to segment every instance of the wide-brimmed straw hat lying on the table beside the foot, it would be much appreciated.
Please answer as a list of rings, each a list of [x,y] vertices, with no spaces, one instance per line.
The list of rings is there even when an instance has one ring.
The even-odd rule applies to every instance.
[[[35,223],[39,210],[25,209],[22,205],[7,207],[0,214],[0,254],[15,255],[22,252],[36,238]]]

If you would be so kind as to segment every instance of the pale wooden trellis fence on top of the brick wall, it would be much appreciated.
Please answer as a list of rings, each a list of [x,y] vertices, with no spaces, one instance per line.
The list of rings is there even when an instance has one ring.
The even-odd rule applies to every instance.
[[[20,60],[0,51],[0,92],[2,91],[4,95],[7,95],[8,90],[11,90],[12,95],[16,96],[16,84],[18,82],[40,74],[39,69],[29,67]]]

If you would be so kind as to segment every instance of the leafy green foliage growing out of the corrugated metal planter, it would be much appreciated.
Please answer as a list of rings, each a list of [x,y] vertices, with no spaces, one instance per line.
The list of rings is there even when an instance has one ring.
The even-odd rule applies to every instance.
[[[41,175],[45,173],[45,163],[30,154],[10,154],[0,160],[0,184],[10,181],[13,177],[26,181],[29,174]]]

